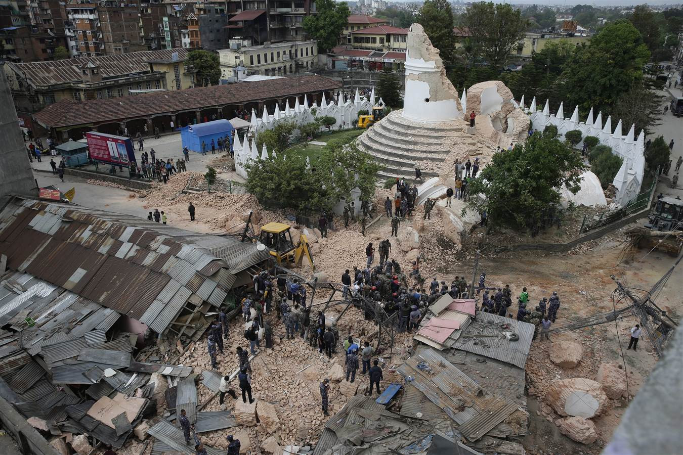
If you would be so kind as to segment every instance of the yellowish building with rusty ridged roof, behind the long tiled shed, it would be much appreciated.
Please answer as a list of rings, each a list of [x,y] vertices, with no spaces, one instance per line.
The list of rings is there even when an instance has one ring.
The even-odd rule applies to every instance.
[[[6,63],[12,98],[20,117],[62,99],[117,98],[140,91],[194,87],[195,69],[186,49],[152,50],[106,57],[78,57],[40,63]]]

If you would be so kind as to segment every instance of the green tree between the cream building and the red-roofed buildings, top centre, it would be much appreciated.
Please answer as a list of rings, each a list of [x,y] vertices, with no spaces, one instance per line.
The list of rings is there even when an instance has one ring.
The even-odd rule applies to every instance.
[[[318,53],[324,54],[337,46],[339,35],[348,24],[351,11],[346,3],[334,0],[316,1],[318,14],[307,16],[303,20],[303,29],[310,38],[318,41]]]

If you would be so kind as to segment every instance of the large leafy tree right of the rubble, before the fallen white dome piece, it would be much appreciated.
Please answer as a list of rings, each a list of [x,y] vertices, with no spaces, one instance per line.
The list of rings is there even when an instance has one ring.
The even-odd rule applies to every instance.
[[[559,203],[559,188],[574,194],[579,191],[584,168],[577,151],[537,132],[524,145],[494,154],[492,162],[470,182],[472,196],[466,209],[486,211],[492,226],[538,226],[544,212]]]

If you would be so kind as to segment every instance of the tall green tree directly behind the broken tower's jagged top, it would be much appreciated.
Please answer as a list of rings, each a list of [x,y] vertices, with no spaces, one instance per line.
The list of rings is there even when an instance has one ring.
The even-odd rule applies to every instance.
[[[444,63],[452,63],[456,53],[456,35],[453,33],[453,10],[447,0],[425,0],[415,20],[425,33]]]

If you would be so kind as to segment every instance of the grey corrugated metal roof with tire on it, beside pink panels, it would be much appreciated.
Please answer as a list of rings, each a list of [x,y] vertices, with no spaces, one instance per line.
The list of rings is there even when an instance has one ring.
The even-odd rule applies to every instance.
[[[507,327],[503,327],[507,325]],[[454,349],[484,355],[524,368],[527,363],[531,338],[535,326],[497,314],[477,312],[474,321],[464,329],[460,338],[453,344]],[[518,341],[510,341],[505,332],[519,336]],[[468,337],[468,335],[493,335],[490,337]]]

